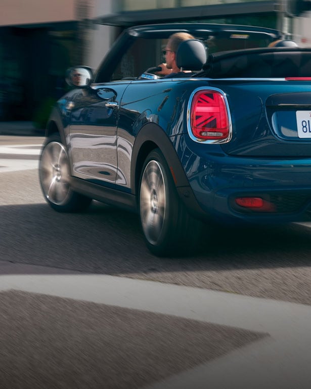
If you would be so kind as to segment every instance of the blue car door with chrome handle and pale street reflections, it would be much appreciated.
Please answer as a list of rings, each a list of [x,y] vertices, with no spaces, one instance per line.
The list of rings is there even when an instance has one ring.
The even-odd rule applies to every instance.
[[[69,132],[74,176],[102,185],[115,183],[118,112],[128,84],[94,84],[72,102]]]

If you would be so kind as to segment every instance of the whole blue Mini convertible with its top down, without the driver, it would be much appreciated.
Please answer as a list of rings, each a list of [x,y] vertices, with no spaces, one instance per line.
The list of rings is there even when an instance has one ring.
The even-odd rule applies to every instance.
[[[161,77],[175,32],[194,39],[176,52],[184,71]],[[156,255],[194,250],[213,222],[310,220],[311,48],[261,27],[137,26],[67,82],[39,165],[53,209],[138,212]]]

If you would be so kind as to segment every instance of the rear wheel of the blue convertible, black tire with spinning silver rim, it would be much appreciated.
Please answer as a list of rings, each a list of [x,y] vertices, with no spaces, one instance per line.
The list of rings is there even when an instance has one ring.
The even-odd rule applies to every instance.
[[[189,215],[159,149],[147,157],[140,179],[139,212],[149,250],[157,256],[197,253],[202,223]]]

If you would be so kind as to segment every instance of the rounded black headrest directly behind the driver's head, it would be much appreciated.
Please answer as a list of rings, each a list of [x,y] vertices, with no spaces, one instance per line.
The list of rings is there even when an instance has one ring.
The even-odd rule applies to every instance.
[[[183,70],[201,70],[207,60],[206,47],[197,39],[180,43],[176,53],[177,67]]]

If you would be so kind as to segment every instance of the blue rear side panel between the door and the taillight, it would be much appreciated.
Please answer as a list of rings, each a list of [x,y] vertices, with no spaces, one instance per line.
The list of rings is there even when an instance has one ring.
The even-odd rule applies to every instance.
[[[175,151],[171,138],[187,132],[187,102],[193,88],[202,82],[207,84],[190,79],[131,82],[123,94],[118,121],[118,185],[135,192],[137,174],[140,174],[135,172],[135,167],[144,144],[163,148],[166,159],[172,159]],[[176,171],[181,168],[177,159],[173,165],[179,165],[174,168]],[[176,186],[187,184],[185,176],[180,180]]]

